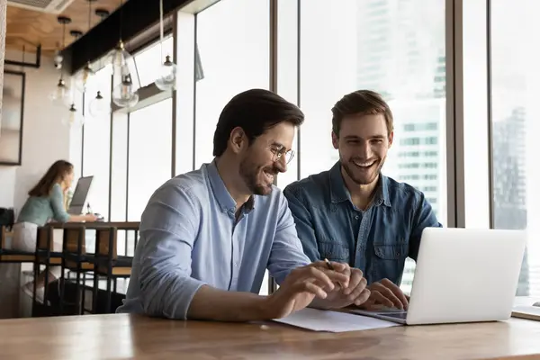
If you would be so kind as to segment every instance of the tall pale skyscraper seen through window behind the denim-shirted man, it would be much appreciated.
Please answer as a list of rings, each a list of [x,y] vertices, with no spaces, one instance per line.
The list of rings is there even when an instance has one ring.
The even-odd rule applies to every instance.
[[[357,2],[357,84],[383,94],[394,141],[383,172],[424,192],[446,219],[445,1]],[[415,264],[401,287],[410,292]]]

